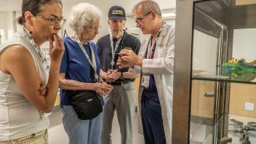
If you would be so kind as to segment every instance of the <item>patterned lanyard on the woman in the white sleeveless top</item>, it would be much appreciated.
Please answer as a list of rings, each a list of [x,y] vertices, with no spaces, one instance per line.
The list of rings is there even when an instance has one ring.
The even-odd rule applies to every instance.
[[[28,34],[28,37],[30,40],[29,42],[32,44],[32,46],[36,50],[36,54],[39,56],[41,63],[44,64],[45,69],[47,70],[47,72],[49,72],[49,63],[47,58],[44,56],[43,52],[41,52],[41,49],[36,45],[36,42],[33,40],[33,37],[31,36],[31,33],[29,33],[28,30],[25,29],[25,27],[23,27],[23,30],[25,31],[25,33]]]

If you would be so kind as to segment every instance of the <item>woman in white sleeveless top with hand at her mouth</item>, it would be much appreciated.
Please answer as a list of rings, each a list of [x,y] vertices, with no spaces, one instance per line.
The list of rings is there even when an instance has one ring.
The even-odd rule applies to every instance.
[[[23,0],[23,28],[0,45],[0,144],[48,143],[64,46],[60,0]],[[50,65],[39,46],[49,41]],[[43,83],[43,85],[42,85]]]

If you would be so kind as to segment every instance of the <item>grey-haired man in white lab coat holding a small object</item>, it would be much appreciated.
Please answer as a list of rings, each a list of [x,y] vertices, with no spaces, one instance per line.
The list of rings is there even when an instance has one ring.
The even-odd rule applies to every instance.
[[[139,1],[132,12],[136,26],[148,36],[138,56],[121,50],[117,64],[140,73],[139,131],[145,143],[171,144],[175,27],[164,22],[155,1]]]

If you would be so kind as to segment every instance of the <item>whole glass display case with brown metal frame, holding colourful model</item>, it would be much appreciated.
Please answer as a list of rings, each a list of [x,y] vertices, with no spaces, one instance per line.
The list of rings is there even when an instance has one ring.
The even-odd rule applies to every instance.
[[[256,1],[176,9],[172,143],[256,143]]]

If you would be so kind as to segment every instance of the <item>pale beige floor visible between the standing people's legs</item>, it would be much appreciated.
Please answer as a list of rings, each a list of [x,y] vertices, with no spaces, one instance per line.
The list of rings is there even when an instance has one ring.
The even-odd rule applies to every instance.
[[[62,124],[62,113],[60,111],[60,107],[56,106],[54,112],[50,119],[50,127],[49,127],[49,144],[68,144],[68,135],[65,133]],[[143,135],[138,134],[137,132],[137,113],[135,114],[135,124],[133,127],[133,144],[143,144]],[[113,119],[113,132],[112,132],[112,142],[113,144],[121,143],[121,135],[119,132],[119,123],[117,121],[116,116]]]

